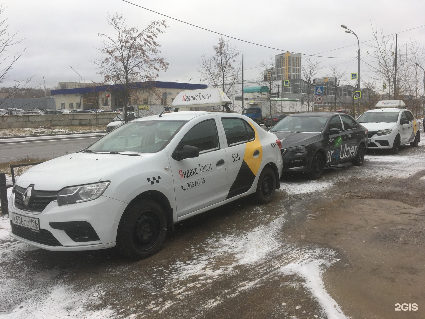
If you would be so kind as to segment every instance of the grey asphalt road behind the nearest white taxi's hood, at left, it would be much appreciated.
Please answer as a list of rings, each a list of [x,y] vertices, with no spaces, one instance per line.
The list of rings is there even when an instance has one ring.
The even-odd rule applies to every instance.
[[[31,156],[52,159],[86,148],[99,137],[76,138],[68,140],[50,140],[39,142],[17,142],[0,144],[0,162],[9,162]]]

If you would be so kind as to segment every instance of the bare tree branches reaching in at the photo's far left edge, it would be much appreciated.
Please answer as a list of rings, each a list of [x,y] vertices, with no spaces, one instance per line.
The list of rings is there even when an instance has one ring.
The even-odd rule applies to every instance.
[[[7,18],[2,19],[4,15],[4,10],[6,7],[4,6],[4,2],[0,3],[0,84],[5,82],[10,76],[10,71],[13,65],[17,62],[17,60],[24,54],[27,47],[25,47],[21,52],[16,52],[14,54],[9,55],[9,50],[12,46],[21,43],[23,39],[15,40],[17,32],[14,34],[8,33],[9,25],[7,24]],[[6,95],[0,99],[0,108],[2,108],[2,104],[5,103],[6,99],[13,97],[15,94],[28,89],[28,85],[31,81],[32,77],[27,77],[25,80],[13,80],[14,87],[7,90]],[[37,85],[38,86],[38,85]]]

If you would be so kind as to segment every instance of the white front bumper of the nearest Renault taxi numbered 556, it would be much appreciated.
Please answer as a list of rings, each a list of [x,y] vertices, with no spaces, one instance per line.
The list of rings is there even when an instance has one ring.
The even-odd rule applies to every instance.
[[[85,251],[114,247],[119,220],[127,207],[124,202],[101,196],[92,201],[63,206],[58,206],[57,201],[53,201],[41,213],[34,214],[15,207],[14,196],[13,193],[9,199],[9,212],[40,219],[40,233],[32,233],[34,236],[31,236],[31,231],[28,232],[28,229],[18,226],[12,228],[11,237],[51,251]],[[57,222],[88,223],[97,235],[96,240],[79,241],[73,237],[77,240],[74,241],[71,239],[71,232],[57,229],[57,224],[51,224]],[[51,225],[54,225],[55,228],[52,228]]]

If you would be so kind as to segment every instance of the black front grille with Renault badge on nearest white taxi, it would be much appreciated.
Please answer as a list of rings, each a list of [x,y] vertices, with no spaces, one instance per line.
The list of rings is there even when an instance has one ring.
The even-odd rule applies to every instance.
[[[15,185],[15,207],[22,211],[30,211],[34,213],[41,213],[46,206],[57,199],[58,191],[37,191],[35,189],[31,192],[31,198],[28,202],[28,206],[24,205],[22,194],[26,188]]]

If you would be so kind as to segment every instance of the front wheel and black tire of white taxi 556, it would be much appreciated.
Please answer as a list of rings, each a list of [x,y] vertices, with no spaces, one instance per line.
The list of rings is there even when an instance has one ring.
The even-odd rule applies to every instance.
[[[153,200],[141,200],[130,204],[122,214],[116,248],[130,259],[144,259],[159,251],[166,234],[167,217],[164,209]]]

